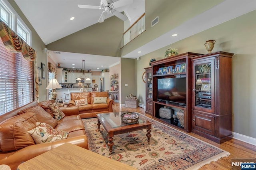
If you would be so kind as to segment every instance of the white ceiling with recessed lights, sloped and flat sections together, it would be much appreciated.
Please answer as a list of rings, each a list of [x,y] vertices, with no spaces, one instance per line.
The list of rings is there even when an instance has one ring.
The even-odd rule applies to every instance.
[[[117,0],[112,0],[112,2],[116,1]],[[102,10],[78,8],[78,4],[99,6],[100,0],[15,0],[15,2],[46,45],[96,24],[102,13]],[[122,57],[140,57],[255,9],[256,0],[225,0],[217,6],[214,6],[191,20],[184,22],[177,28],[156,38],[152,42],[148,42]],[[144,0],[134,0],[133,4],[116,10],[120,12],[124,11],[132,23],[136,20],[136,17],[144,13]],[[70,21],[72,16],[74,16],[75,19]],[[191,27],[193,29],[187,29]],[[179,35],[172,38],[171,35],[174,33]],[[142,53],[138,53],[138,51],[142,51]],[[96,70],[101,65],[104,65],[104,67],[99,69],[105,69],[113,63],[120,61],[118,57],[66,52],[55,54],[53,51],[48,51],[48,53],[52,59],[61,63],[61,67],[67,68],[71,68],[70,64],[74,62],[76,62],[77,68],[81,68],[82,59],[86,60],[85,67],[92,70]],[[76,58],[76,60],[74,60],[74,58]],[[95,62],[91,62],[94,60]]]

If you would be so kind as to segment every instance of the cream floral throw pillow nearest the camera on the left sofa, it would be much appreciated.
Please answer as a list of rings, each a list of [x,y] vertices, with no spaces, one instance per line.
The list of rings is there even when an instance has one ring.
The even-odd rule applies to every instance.
[[[68,132],[54,129],[47,123],[40,122],[36,122],[36,128],[29,130],[28,133],[32,136],[36,144],[66,139],[68,137]]]

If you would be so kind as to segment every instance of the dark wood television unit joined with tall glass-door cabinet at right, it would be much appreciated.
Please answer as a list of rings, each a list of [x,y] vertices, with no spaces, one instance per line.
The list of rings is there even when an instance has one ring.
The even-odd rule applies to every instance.
[[[214,142],[232,139],[233,55],[187,52],[152,62],[152,117]]]

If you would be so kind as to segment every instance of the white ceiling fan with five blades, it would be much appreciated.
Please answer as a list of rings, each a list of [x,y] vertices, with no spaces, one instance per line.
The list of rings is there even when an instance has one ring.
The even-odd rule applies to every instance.
[[[111,1],[112,0],[108,0]],[[104,22],[108,13],[114,14],[116,17],[120,18],[121,20],[127,20],[127,16],[124,16],[115,8],[119,8],[121,6],[126,6],[128,4],[132,4],[133,0],[118,0],[116,2],[109,3],[107,0],[100,0],[100,6],[91,6],[91,5],[78,5],[79,8],[88,8],[88,9],[99,9],[104,10],[100,16],[98,22]]]

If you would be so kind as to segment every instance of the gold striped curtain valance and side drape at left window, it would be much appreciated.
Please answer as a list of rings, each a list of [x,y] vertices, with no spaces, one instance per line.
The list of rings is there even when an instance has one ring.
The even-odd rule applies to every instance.
[[[23,57],[27,61],[34,61],[34,78],[35,78],[35,97],[36,100],[39,98],[38,88],[38,71],[37,71],[37,60],[36,51],[30,47],[18,34],[10,29],[2,20],[0,20],[0,37],[4,46],[8,51],[17,53],[21,52]]]

